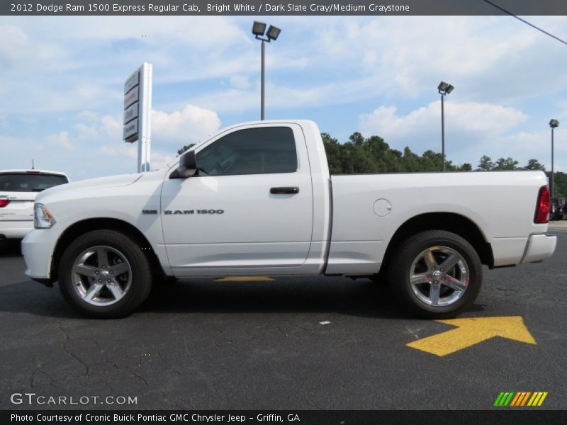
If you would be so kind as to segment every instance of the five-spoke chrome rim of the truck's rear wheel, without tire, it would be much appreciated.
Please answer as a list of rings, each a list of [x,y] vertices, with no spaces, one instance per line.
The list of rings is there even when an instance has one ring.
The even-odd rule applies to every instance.
[[[448,246],[432,246],[412,262],[409,277],[412,292],[421,302],[442,307],[464,295],[469,276],[461,254]]]

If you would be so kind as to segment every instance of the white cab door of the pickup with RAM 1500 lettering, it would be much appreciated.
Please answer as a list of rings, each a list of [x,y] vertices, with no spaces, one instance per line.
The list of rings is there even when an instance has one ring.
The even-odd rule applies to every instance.
[[[301,128],[285,127],[289,134],[293,131],[296,141],[294,172],[223,175],[246,168],[242,166],[242,155],[235,159],[235,155],[223,151],[223,140],[236,138],[230,142],[232,145],[226,145],[240,148],[239,143],[247,143],[246,135],[254,134],[242,130],[258,128],[256,125],[233,132],[242,132],[238,135],[223,134],[198,149],[197,166],[205,167],[211,175],[199,171],[198,176],[189,179],[169,179],[168,174],[162,188],[162,227],[169,263],[177,276],[198,275],[205,268],[262,269],[305,263],[313,231],[310,169]],[[207,153],[217,149],[215,143],[223,147],[223,153],[218,153],[222,164],[210,161]],[[260,163],[269,171],[269,157],[278,159],[273,152],[254,155],[254,159],[260,159],[249,171],[262,171],[254,169]],[[277,171],[279,166],[274,169]],[[298,193],[271,193],[272,188],[298,188]]]

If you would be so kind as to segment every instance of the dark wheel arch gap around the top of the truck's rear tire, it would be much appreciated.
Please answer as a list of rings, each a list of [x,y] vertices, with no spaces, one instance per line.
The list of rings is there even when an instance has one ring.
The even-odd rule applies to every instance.
[[[384,254],[383,264],[387,266],[388,260],[395,253],[401,242],[408,239],[412,234],[425,230],[445,230],[458,234],[473,246],[481,259],[481,263],[493,268],[494,255],[492,246],[486,241],[481,229],[472,220],[454,212],[427,212],[405,221],[403,225],[398,227],[390,239]]]

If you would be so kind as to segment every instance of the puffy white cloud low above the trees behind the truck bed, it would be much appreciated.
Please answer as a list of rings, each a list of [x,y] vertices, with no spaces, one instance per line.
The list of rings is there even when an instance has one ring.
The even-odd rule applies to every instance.
[[[476,102],[445,103],[447,159],[455,164],[470,162],[476,166],[483,155],[498,159],[513,157],[521,164],[536,158],[544,162],[541,134],[520,130],[529,116],[515,108]],[[392,106],[380,106],[359,116],[359,128],[365,136],[380,135],[395,149],[410,147],[421,154],[441,151],[441,105],[435,101],[403,115]]]

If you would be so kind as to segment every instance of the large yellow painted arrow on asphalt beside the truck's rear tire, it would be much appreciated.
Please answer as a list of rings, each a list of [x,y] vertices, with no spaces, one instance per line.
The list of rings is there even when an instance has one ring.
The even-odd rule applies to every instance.
[[[526,344],[536,344],[536,340],[527,330],[522,316],[505,317],[471,317],[470,319],[437,320],[439,323],[452,324],[456,329],[442,334],[427,336],[427,338],[406,344],[408,347],[435,354],[447,354],[470,347],[487,339],[515,339]]]

